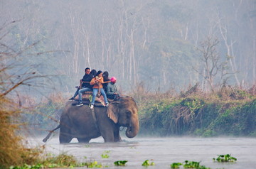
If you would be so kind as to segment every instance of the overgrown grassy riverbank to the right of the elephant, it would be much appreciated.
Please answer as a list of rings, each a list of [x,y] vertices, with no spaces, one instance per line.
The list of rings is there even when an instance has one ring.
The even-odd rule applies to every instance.
[[[139,103],[140,134],[256,136],[256,97],[251,90],[188,91],[160,99],[144,95],[146,102]]]

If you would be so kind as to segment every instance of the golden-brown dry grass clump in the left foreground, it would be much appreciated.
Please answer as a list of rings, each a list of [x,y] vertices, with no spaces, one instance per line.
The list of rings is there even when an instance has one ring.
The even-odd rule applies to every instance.
[[[0,99],[0,168],[34,163],[41,154],[42,150],[37,148],[26,148],[22,137],[16,134],[21,125],[16,121],[19,114],[16,104]]]

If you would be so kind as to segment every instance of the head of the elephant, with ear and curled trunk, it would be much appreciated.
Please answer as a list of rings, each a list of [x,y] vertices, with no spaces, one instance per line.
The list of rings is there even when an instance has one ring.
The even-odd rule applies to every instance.
[[[132,97],[121,97],[117,102],[112,102],[107,115],[115,124],[127,127],[127,137],[133,138],[139,132],[138,107]]]

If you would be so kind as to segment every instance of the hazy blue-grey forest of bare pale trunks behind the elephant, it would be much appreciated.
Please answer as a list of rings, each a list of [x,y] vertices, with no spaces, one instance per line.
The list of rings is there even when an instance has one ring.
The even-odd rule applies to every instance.
[[[124,93],[139,84],[166,92],[198,83],[208,92],[256,80],[253,0],[4,0],[0,8],[5,44],[37,43],[29,54],[41,53],[22,53],[19,65],[52,75],[50,84],[35,82],[44,84],[36,92],[73,92],[85,67],[109,71]]]

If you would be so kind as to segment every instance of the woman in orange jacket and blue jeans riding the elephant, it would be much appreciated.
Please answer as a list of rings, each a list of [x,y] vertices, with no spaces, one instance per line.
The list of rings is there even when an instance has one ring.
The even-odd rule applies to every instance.
[[[96,74],[95,77],[92,78],[92,80],[90,81],[90,84],[93,85],[92,87],[92,102],[91,102],[91,106],[90,109],[93,109],[94,104],[95,104],[95,97],[97,95],[97,92],[99,92],[102,94],[102,96],[104,97],[105,100],[105,106],[108,107],[108,102],[107,102],[107,95],[103,89],[102,83],[104,83],[103,77],[102,77],[102,71],[99,70]]]

